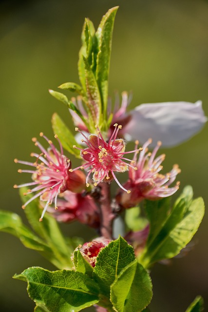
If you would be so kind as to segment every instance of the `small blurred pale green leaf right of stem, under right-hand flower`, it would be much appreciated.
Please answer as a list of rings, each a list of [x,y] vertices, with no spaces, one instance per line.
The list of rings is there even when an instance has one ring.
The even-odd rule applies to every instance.
[[[133,207],[125,211],[125,223],[133,232],[142,230],[148,223],[146,218],[140,216],[140,208]]]

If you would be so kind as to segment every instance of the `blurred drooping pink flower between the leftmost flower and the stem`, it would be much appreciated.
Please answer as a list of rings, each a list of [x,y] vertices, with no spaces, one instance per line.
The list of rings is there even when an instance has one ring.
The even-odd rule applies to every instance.
[[[93,228],[98,228],[100,216],[94,199],[83,193],[65,191],[63,199],[57,200],[58,210],[50,209],[59,222],[71,222],[78,220]]]

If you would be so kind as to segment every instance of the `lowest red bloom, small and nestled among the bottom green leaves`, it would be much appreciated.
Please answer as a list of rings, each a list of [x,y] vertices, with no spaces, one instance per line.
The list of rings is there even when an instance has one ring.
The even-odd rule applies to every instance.
[[[83,257],[92,265],[92,267],[95,267],[97,255],[104,247],[108,246],[110,242],[111,240],[104,237],[97,237],[92,242],[84,243],[82,246],[77,247],[77,249],[80,251]]]

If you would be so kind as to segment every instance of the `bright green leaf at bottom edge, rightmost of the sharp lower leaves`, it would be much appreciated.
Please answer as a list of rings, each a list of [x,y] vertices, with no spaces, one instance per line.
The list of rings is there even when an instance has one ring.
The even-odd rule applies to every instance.
[[[137,260],[126,266],[111,285],[111,302],[118,312],[141,312],[151,298],[150,275]]]

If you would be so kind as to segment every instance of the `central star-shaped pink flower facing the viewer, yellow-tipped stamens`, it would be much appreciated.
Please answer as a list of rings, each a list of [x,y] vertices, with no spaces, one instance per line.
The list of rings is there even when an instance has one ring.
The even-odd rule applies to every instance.
[[[133,152],[137,153],[141,149],[125,152],[126,145],[124,140],[122,138],[116,139],[118,131],[122,128],[122,126],[118,126],[116,123],[114,124],[114,127],[113,134],[108,142],[104,140],[97,126],[97,135],[90,135],[88,138],[82,132],[80,132],[78,128],[76,128],[76,131],[79,131],[85,138],[85,140],[82,140],[82,142],[85,142],[88,147],[85,149],[80,148],[80,155],[82,156],[83,160],[86,161],[86,163],[80,167],[75,168],[74,170],[79,168],[87,169],[91,167],[86,177],[87,186],[89,186],[88,179],[90,174],[94,173],[93,180],[95,182],[95,186],[97,186],[97,184],[103,180],[107,181],[114,178],[122,190],[130,193],[128,189],[124,188],[120,184],[114,172],[125,172],[129,170],[129,167],[131,167],[132,170],[137,170],[137,168],[133,167],[132,164],[128,164],[124,161],[126,160],[132,162],[132,160],[125,158],[124,155]],[[74,148],[77,147],[74,145]],[[70,171],[73,172],[72,169],[70,169]]]

